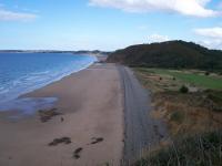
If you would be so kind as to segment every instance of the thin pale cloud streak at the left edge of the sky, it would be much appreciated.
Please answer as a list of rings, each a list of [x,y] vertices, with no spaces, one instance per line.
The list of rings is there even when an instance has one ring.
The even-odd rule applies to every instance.
[[[26,12],[14,12],[0,8],[0,21],[31,21],[38,15]]]

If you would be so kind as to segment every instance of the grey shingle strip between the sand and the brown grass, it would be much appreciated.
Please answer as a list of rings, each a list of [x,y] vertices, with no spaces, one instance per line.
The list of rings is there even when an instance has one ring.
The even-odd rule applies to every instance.
[[[167,129],[161,121],[153,120],[150,92],[143,89],[133,72],[118,66],[124,92],[124,163],[130,163],[167,136]]]

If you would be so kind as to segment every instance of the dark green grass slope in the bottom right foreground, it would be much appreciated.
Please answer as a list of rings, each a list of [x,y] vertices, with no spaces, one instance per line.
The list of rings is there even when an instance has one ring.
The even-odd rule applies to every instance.
[[[174,142],[140,159],[135,166],[221,166],[222,133],[210,132]]]

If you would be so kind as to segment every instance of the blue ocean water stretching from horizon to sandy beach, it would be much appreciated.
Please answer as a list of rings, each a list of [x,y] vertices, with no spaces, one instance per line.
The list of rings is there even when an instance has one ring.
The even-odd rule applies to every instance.
[[[94,61],[94,56],[71,53],[0,53],[0,111],[19,95],[85,69]]]

